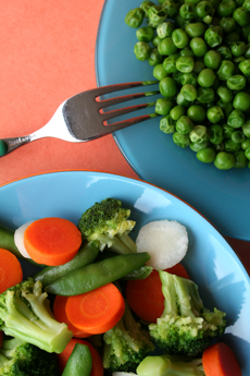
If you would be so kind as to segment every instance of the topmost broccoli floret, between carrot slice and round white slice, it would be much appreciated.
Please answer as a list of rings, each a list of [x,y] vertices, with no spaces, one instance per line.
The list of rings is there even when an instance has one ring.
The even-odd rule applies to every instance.
[[[80,217],[78,228],[83,239],[96,241],[100,251],[105,246],[118,254],[135,253],[134,240],[128,233],[135,221],[128,220],[130,210],[122,207],[116,198],[105,198],[88,208]]]

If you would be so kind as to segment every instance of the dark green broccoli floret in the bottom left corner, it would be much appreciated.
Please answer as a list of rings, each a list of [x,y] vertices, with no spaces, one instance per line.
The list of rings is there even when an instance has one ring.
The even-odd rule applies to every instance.
[[[4,339],[0,349],[0,375],[59,376],[58,356],[17,338]]]

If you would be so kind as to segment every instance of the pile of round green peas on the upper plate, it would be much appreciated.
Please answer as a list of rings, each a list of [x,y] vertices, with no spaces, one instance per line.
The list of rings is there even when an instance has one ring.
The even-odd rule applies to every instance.
[[[160,130],[220,170],[250,168],[250,0],[143,1],[125,23],[159,81]]]

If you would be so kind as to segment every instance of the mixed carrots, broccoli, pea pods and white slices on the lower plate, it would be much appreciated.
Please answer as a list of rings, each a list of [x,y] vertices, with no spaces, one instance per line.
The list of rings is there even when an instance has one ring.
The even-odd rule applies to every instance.
[[[105,198],[77,226],[0,227],[0,375],[241,375],[221,339],[226,313],[203,305],[182,265],[186,229],[149,222],[134,241],[129,216]],[[22,258],[39,267],[27,279]]]

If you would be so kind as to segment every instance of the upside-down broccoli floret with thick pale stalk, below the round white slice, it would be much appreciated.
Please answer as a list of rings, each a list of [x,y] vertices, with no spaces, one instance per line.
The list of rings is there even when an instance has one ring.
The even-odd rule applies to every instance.
[[[198,286],[189,279],[160,271],[164,312],[149,325],[155,344],[168,354],[198,356],[226,327],[225,313],[203,306]]]

